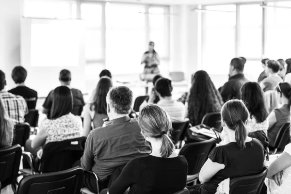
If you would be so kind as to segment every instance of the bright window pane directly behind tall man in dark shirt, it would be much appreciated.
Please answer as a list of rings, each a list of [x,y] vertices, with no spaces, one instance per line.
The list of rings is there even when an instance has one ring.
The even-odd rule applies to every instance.
[[[236,6],[206,6],[206,9],[225,12],[209,11],[202,15],[202,68],[209,74],[225,75],[235,56]]]

